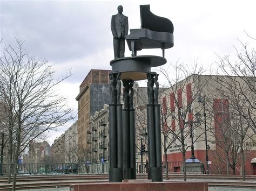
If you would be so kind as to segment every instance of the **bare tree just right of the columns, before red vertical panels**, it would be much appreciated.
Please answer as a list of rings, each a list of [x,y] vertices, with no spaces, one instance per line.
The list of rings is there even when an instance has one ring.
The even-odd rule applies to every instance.
[[[197,119],[194,119],[193,110],[201,110],[201,108],[196,108],[194,102],[197,102],[201,90],[207,83],[207,81],[199,80],[200,74],[203,72],[203,68],[199,67],[197,63],[188,66],[177,62],[175,65],[170,65],[168,69],[160,69],[160,73],[165,76],[168,82],[167,87],[169,87],[169,90],[165,91],[165,97],[162,97],[163,133],[165,141],[168,142],[164,145],[165,156],[167,157],[167,148],[175,147],[176,151],[181,152],[184,181],[186,181],[185,154],[187,149],[193,146],[188,139],[192,135],[191,132],[200,126],[199,123],[194,123]],[[184,95],[186,96],[184,97]],[[171,105],[171,107],[167,107],[167,100],[169,99],[166,97],[170,98],[171,103],[168,103],[168,105]],[[197,135],[192,135],[194,136],[193,143],[198,142],[205,131],[202,129],[198,132]]]

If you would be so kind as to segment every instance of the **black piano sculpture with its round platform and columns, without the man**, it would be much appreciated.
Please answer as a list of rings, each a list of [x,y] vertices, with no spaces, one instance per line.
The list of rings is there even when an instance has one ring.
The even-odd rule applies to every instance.
[[[164,17],[154,15],[150,5],[140,5],[142,29],[131,29],[126,42],[131,57],[110,61],[110,169],[109,181],[122,182],[136,179],[135,123],[133,109],[133,83],[147,79],[147,135],[149,150],[148,179],[163,181],[161,166],[160,105],[158,104],[158,74],[152,67],[164,65],[165,49],[173,47],[173,24]],[[146,48],[161,48],[163,56],[137,55]],[[120,104],[120,80],[123,80],[124,109]]]

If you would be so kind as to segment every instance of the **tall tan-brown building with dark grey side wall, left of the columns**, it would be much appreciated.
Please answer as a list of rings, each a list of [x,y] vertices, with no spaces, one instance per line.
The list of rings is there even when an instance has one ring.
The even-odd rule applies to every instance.
[[[80,84],[78,101],[78,147],[88,150],[87,131],[90,129],[90,116],[110,102],[109,73],[111,70],[91,69]],[[81,149],[80,148],[80,149]]]

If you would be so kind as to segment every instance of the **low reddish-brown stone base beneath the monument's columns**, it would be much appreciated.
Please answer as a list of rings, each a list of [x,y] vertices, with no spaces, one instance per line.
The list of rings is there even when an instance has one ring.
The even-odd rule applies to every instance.
[[[118,182],[71,184],[70,191],[119,191],[119,190],[190,190],[207,191],[207,182]]]

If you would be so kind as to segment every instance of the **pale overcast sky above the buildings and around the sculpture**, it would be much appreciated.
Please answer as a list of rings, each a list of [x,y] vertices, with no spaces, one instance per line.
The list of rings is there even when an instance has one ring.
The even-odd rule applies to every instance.
[[[140,4],[169,18],[174,25],[174,47],[166,49],[167,63],[198,59],[206,70],[218,55],[234,54],[238,40],[255,47],[244,31],[256,36],[256,1],[5,1],[0,0],[0,32],[4,44],[25,40],[26,50],[36,58],[55,64],[57,74],[69,69],[72,76],[60,86],[77,111],[79,84],[90,69],[111,69],[113,40],[111,16],[123,5],[129,29],[140,27]],[[138,55],[161,55],[161,50],[139,51]],[[125,56],[131,53],[126,45]],[[159,77],[160,78],[160,77]],[[146,86],[146,82],[139,83]],[[74,121],[75,122],[75,121]],[[71,122],[72,124],[73,122]],[[71,124],[50,132],[50,144]]]

